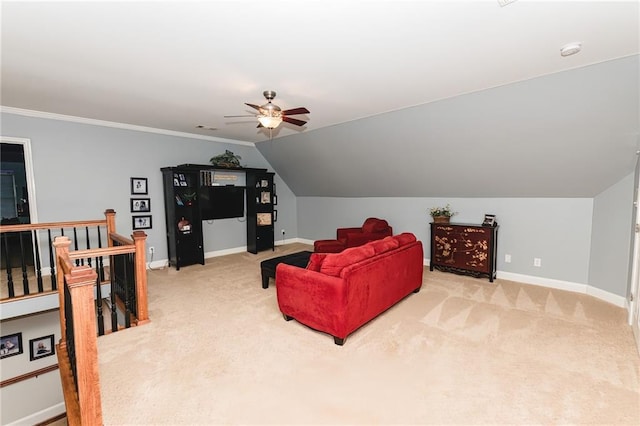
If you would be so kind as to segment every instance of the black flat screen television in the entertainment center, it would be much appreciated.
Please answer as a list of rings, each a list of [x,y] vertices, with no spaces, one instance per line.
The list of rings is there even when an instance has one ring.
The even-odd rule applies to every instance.
[[[200,187],[200,215],[202,220],[244,217],[244,187]]]

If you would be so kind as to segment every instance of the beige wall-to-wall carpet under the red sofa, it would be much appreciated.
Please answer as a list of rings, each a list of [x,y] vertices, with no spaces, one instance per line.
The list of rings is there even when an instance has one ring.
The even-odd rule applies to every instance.
[[[152,322],[99,339],[105,424],[640,424],[623,309],[425,268],[340,347],[261,287],[304,249],[150,271]]]

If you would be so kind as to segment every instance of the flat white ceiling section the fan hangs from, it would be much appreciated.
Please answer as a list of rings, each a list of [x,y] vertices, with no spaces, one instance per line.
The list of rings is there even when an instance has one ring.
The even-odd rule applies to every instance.
[[[239,141],[278,93],[303,128],[637,54],[638,2],[2,1],[4,107]],[[561,46],[582,42],[563,58]],[[217,128],[199,130],[197,125]],[[398,123],[398,126],[403,124]],[[405,124],[410,125],[410,124]]]

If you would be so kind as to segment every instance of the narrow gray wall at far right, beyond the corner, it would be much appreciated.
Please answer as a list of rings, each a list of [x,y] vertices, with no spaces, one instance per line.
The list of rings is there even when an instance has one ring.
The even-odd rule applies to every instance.
[[[634,173],[603,191],[593,202],[589,284],[621,296],[629,283],[633,227]]]

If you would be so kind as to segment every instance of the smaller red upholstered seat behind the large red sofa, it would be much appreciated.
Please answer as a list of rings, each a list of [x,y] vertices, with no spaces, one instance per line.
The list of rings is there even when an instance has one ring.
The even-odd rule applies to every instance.
[[[313,243],[316,253],[339,253],[349,247],[357,247],[373,240],[393,235],[393,228],[384,219],[370,217],[358,228],[338,228],[335,240],[318,240]]]

